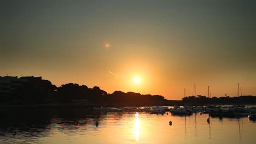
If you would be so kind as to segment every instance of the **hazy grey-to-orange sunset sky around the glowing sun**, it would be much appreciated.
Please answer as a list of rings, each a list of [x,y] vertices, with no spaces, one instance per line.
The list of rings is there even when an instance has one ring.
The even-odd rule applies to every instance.
[[[180,100],[256,95],[255,1],[1,1],[0,75]],[[135,77],[137,82],[134,80]],[[240,88],[239,88],[240,89]],[[240,95],[240,92],[239,92]]]

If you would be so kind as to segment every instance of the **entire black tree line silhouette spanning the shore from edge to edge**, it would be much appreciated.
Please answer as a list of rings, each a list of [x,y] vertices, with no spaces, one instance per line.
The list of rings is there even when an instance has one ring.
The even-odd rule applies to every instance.
[[[135,92],[115,91],[111,94],[100,87],[88,88],[77,83],[67,83],[56,87],[49,80],[37,83],[25,82],[17,85],[10,92],[0,92],[1,104],[91,104],[91,105],[207,105],[207,104],[256,104],[255,96],[212,97],[197,95],[184,97],[182,100],[166,100],[161,95],[140,94]]]

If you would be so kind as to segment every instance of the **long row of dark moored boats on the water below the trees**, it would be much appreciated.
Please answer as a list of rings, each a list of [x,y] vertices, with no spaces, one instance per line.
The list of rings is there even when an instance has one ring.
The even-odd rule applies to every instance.
[[[96,111],[106,112],[148,112],[155,114],[164,114],[166,112],[172,115],[193,115],[193,113],[209,113],[212,117],[249,117],[252,120],[256,119],[255,106],[155,106],[155,107],[94,107]],[[167,113],[168,114],[168,113]]]

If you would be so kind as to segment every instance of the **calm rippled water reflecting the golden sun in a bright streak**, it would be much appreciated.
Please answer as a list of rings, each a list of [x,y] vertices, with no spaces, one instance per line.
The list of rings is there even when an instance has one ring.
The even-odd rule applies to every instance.
[[[208,124],[208,115],[199,113],[181,117],[86,109],[8,109],[1,115],[0,143],[256,142],[256,123],[247,117],[210,117]]]

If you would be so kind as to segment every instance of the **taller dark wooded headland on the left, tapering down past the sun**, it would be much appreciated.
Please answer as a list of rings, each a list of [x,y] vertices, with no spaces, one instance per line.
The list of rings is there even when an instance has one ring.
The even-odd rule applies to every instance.
[[[11,92],[1,92],[1,104],[49,104],[49,103],[88,103],[105,105],[131,105],[167,101],[161,95],[140,94],[115,91],[108,94],[100,87],[88,88],[77,83],[67,83],[56,87],[48,80],[34,83],[26,82],[15,87]]]

